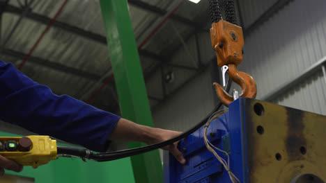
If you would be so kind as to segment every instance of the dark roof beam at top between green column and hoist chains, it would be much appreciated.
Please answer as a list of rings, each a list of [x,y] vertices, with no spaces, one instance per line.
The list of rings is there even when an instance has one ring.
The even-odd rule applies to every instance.
[[[161,8],[158,8],[157,6],[150,5],[148,3],[145,3],[143,1],[139,0],[128,0],[128,3],[134,7],[146,10],[148,12],[153,12],[156,15],[164,16],[166,15],[166,10],[163,10]],[[185,24],[187,26],[193,27],[193,28],[201,28],[200,24],[191,21],[189,19],[186,19],[185,17],[181,17],[179,15],[171,15],[171,19],[178,21],[181,24]]]

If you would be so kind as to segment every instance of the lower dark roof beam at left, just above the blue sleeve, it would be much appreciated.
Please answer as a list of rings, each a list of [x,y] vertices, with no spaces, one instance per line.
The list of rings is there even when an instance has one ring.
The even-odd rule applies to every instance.
[[[17,58],[17,59],[24,59],[26,53],[22,53],[22,52],[19,52],[19,51],[14,51],[14,50],[11,50],[11,49],[3,49],[2,50],[2,53],[5,54],[5,55],[10,55],[14,58]],[[94,73],[88,73],[86,71],[81,71],[79,69],[75,69],[73,67],[68,67],[68,66],[65,66],[63,64],[59,64],[59,63],[56,63],[56,62],[51,62],[49,60],[45,60],[45,59],[42,59],[42,58],[37,58],[37,57],[34,57],[34,56],[31,56],[29,58],[29,62],[33,63],[33,64],[38,64],[40,66],[43,66],[43,67],[48,67],[49,69],[54,69],[56,71],[61,71],[61,72],[64,72],[64,73],[70,73],[70,74],[73,74],[75,76],[78,76],[80,78],[87,78],[89,80],[100,80],[101,76],[100,75],[97,75],[97,74],[94,74]]]

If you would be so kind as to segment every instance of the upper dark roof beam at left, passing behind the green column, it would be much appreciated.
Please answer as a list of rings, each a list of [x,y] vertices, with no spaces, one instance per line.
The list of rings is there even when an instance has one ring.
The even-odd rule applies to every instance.
[[[17,8],[15,6],[12,5],[8,5],[6,6],[6,8],[4,8],[5,12],[10,12],[13,13],[15,15],[22,15],[24,13],[24,9],[22,8]],[[31,19],[33,21],[37,21],[40,24],[49,24],[49,22],[51,21],[51,19],[49,17],[46,17],[44,15],[40,15],[38,13],[35,12],[29,12],[26,15],[24,15],[26,18]],[[72,26],[70,24],[66,24],[63,21],[54,21],[54,23],[52,24],[52,26],[56,27],[56,28],[61,28],[65,31],[68,31],[70,33],[79,35],[81,37],[85,37],[89,40],[93,40],[95,42],[99,42],[102,44],[107,44],[107,38],[102,36],[102,35],[98,35],[96,33],[92,33],[91,31],[87,31],[84,30],[82,28],[79,28],[77,26]],[[143,56],[147,56],[150,58],[160,58],[160,55],[156,55],[155,53],[150,53],[149,51],[140,51],[139,54],[143,55]]]

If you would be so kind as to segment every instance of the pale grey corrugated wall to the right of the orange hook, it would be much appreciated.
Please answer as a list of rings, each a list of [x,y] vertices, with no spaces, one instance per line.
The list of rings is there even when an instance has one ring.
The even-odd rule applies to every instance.
[[[326,56],[326,1],[295,0],[245,39],[244,64],[258,86],[257,98],[290,84]],[[325,64],[324,64],[325,65]],[[320,67],[272,102],[326,115],[326,78]]]

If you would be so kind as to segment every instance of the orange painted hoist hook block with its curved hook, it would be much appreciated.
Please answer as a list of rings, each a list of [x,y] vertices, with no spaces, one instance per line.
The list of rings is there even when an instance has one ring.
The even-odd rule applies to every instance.
[[[254,78],[249,74],[238,71],[237,66],[242,62],[242,47],[244,39],[242,28],[227,21],[219,21],[212,24],[210,29],[210,38],[212,47],[217,53],[217,64],[219,67],[228,66],[228,76],[238,83],[242,88],[240,97],[256,98],[257,87]],[[233,102],[233,96],[230,96],[224,88],[214,82],[219,100],[228,106]]]

